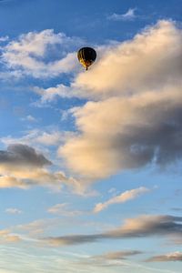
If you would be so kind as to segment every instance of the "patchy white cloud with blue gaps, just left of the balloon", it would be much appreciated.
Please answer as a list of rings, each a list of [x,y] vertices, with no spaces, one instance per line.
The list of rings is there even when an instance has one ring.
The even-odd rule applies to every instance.
[[[55,77],[76,69],[75,50],[82,43],[77,37],[55,34],[53,29],[29,32],[5,45],[1,60],[17,76]]]

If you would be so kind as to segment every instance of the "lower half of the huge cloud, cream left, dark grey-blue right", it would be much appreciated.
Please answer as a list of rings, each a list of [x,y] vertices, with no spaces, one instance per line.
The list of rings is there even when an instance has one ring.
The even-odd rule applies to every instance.
[[[154,161],[167,167],[182,157],[181,94],[178,87],[89,102],[74,114],[82,133],[68,138],[58,153],[70,169],[91,179]]]

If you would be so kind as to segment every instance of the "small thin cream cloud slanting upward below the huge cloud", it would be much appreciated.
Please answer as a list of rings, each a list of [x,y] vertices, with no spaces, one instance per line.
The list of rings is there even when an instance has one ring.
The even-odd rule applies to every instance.
[[[126,201],[139,197],[140,195],[147,193],[148,191],[150,191],[150,189],[148,189],[147,187],[138,187],[131,190],[126,190],[119,196],[112,197],[104,203],[96,204],[94,212],[98,213],[101,210],[106,209],[106,207],[113,204],[125,203]]]

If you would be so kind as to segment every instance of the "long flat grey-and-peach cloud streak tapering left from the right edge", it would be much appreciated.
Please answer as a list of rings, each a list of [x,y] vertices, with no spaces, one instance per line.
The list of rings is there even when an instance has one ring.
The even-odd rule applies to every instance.
[[[91,235],[70,235],[44,238],[51,246],[69,246],[92,243],[101,239],[146,238],[151,236],[174,237],[182,235],[182,217],[140,216],[126,219],[122,227]]]

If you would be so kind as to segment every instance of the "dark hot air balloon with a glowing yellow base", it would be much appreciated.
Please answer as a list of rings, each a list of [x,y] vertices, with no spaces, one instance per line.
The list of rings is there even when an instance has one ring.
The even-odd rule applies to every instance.
[[[77,58],[87,70],[96,60],[96,50],[92,47],[82,47],[77,52]]]

